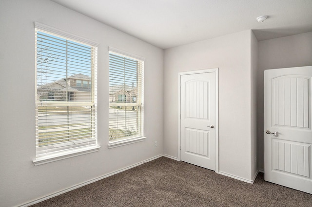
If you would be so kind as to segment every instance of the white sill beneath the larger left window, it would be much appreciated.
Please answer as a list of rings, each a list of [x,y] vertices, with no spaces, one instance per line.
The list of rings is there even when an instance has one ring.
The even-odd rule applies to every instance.
[[[79,150],[72,150],[72,151],[65,152],[65,153],[56,153],[54,155],[41,156],[33,160],[33,163],[35,166],[43,165],[49,162],[55,162],[58,160],[67,159],[67,158],[74,157],[74,156],[98,152],[99,148],[101,147],[100,146],[88,147],[88,148],[79,149]]]

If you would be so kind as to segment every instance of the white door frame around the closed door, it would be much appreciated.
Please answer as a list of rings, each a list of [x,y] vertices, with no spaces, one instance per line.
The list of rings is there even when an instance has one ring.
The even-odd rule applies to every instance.
[[[201,70],[192,70],[186,72],[178,73],[178,143],[177,143],[177,159],[181,161],[181,76],[182,75],[193,75],[199,73],[215,73],[215,173],[219,172],[219,105],[218,105],[218,97],[219,97],[219,88],[218,88],[218,68],[214,69],[201,69]]]

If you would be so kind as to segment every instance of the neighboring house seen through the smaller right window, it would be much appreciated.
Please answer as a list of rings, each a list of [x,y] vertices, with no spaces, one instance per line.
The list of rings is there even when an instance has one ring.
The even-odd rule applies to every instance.
[[[115,85],[109,87],[109,102],[114,103],[136,103],[137,87],[123,85]]]

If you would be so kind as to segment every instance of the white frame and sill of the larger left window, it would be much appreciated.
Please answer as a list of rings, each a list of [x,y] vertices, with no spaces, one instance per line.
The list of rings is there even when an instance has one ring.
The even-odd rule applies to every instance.
[[[68,148],[67,150],[64,151],[56,151],[55,153],[51,153],[49,155],[35,155],[35,159],[33,160],[33,163],[35,165],[41,165],[41,164],[45,164],[45,163],[49,163],[49,162],[53,162],[53,161],[57,161],[57,160],[61,160],[61,159],[65,159],[65,158],[69,158],[69,157],[73,157],[73,156],[78,156],[78,155],[83,155],[83,154],[88,154],[88,153],[93,153],[93,152],[97,152],[100,148],[100,146],[98,146],[98,132],[97,132],[97,50],[98,50],[98,44],[95,43],[92,40],[80,37],[78,35],[73,35],[71,33],[53,28],[51,26],[45,25],[45,24],[41,24],[39,22],[34,22],[34,26],[35,26],[35,31],[36,31],[36,35],[37,35],[37,31],[39,32],[43,32],[45,34],[50,34],[56,37],[61,37],[64,39],[68,39],[83,45],[88,45],[90,47],[93,48],[93,52],[94,52],[94,61],[92,61],[92,68],[91,68],[91,80],[93,81],[93,88],[91,90],[91,102],[92,105],[94,107],[94,116],[95,116],[95,123],[93,124],[93,129],[94,130],[94,136],[92,136],[92,138],[95,139],[95,144],[93,145],[86,145],[84,147],[80,147],[80,148]],[[37,108],[37,101],[39,100],[38,95],[37,95],[37,37],[36,37],[36,108]],[[92,55],[92,54],[91,54]],[[67,69],[66,69],[67,70]],[[91,81],[91,82],[92,82]],[[89,82],[88,82],[89,83]],[[68,91],[67,91],[68,92]],[[72,94],[73,95],[73,94]],[[87,105],[87,104],[91,104],[90,102],[86,103],[86,102],[81,102],[81,103],[77,103],[74,100],[72,100],[72,96],[69,97],[69,99],[67,100],[67,102],[62,102],[61,101],[55,101],[54,102],[50,102],[50,101],[46,101],[45,104],[47,105],[68,105],[68,106],[75,106],[75,105]],[[38,117],[38,111],[36,109],[36,117]],[[36,134],[37,134],[37,130],[38,130],[38,121],[36,121]],[[37,137],[37,136],[36,136]],[[37,138],[36,138],[37,140]],[[61,144],[61,142],[57,143],[56,145]],[[37,144],[36,144],[36,149],[37,149]],[[36,150],[37,151],[37,150]]]

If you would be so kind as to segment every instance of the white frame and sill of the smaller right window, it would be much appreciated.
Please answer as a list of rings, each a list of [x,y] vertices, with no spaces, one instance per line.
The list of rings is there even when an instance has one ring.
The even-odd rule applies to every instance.
[[[138,120],[138,124],[140,125],[141,133],[135,137],[130,137],[130,138],[123,137],[123,138],[118,138],[115,140],[111,140],[110,136],[109,136],[108,148],[114,148],[114,147],[118,147],[118,146],[122,146],[122,145],[126,145],[126,144],[136,143],[139,141],[143,141],[146,138],[146,137],[144,137],[144,61],[145,61],[145,58],[142,56],[139,56],[139,55],[132,54],[130,52],[125,52],[125,51],[116,49],[114,47],[109,47],[109,54],[111,54],[111,53],[115,54],[115,55],[123,56],[125,58],[130,58],[130,59],[133,59],[133,60],[140,62],[140,65],[141,65],[141,68],[139,71],[139,77],[140,77],[139,79],[140,80],[138,81],[140,83],[140,85],[137,86],[137,90],[140,90],[140,91],[139,92],[137,91],[137,94],[139,94],[139,96],[137,96],[137,94],[135,95],[136,96],[136,102],[132,101],[132,103],[127,103],[127,101],[126,101],[124,103],[117,103],[119,99],[118,99],[118,97],[115,97],[115,99],[117,98],[117,100],[115,100],[116,103],[111,103],[111,101],[110,101],[109,105],[110,105],[110,107],[111,106],[117,106],[118,107],[119,105],[124,105],[125,107],[139,105],[139,117],[140,117],[140,119]],[[109,86],[111,86],[111,81],[110,81]],[[117,95],[117,96],[120,96],[120,95]],[[124,95],[124,99],[126,99],[126,94],[123,94],[123,95]],[[131,95],[129,97],[131,97]],[[139,97],[139,100],[137,100],[137,97]],[[134,95],[133,95],[132,99],[133,98],[134,98]],[[110,99],[111,99],[111,97],[110,97]]]

